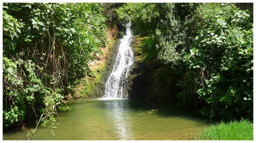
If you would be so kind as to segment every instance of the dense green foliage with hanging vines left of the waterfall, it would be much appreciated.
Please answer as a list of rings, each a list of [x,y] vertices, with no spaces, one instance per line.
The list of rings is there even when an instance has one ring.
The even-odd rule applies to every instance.
[[[3,4],[3,121],[22,124],[44,114],[54,128],[56,107],[106,42],[101,4]]]

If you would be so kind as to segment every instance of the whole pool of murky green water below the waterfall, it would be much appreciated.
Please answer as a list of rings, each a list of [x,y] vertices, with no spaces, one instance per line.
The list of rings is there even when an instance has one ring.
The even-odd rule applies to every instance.
[[[78,100],[58,111],[55,136],[38,127],[31,140],[191,140],[208,125],[198,113],[141,100]],[[26,140],[25,130],[4,131],[4,140]]]

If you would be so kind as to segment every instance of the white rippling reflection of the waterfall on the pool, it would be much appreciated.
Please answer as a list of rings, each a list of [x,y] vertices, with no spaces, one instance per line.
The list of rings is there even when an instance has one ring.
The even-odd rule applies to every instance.
[[[129,115],[128,102],[109,100],[104,102],[106,120],[112,124],[115,133],[120,140],[133,139],[132,118]]]

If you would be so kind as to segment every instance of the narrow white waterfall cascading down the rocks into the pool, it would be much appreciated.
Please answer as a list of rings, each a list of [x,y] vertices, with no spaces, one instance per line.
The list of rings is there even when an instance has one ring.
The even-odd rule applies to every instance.
[[[130,67],[134,62],[133,50],[131,48],[133,35],[130,26],[131,22],[127,23],[126,35],[120,41],[115,65],[105,84],[103,99],[123,99],[127,97],[127,78]]]

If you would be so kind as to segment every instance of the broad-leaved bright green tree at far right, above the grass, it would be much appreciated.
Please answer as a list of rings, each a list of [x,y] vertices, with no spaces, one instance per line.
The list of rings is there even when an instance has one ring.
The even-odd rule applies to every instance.
[[[183,61],[188,66],[187,78],[196,81],[194,90],[206,102],[201,113],[252,119],[253,27],[249,13],[234,5],[216,4],[198,7],[194,18],[199,17]]]

